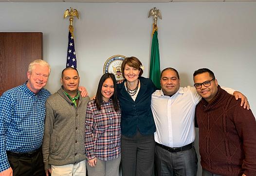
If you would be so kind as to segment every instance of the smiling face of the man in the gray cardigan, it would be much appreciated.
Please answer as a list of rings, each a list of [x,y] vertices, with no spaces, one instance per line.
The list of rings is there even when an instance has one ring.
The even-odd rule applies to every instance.
[[[64,70],[60,79],[63,89],[71,96],[76,95],[79,86],[79,75],[76,70]]]

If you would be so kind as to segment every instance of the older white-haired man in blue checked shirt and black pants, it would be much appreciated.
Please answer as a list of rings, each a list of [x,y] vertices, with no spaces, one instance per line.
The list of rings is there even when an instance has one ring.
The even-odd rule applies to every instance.
[[[43,87],[50,70],[46,61],[35,60],[28,67],[28,81],[0,97],[0,175],[44,174],[40,146],[51,93]]]

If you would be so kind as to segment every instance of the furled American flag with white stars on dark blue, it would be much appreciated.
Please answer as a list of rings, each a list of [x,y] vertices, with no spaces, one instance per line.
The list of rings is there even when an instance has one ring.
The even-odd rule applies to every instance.
[[[69,44],[68,44],[68,54],[67,54],[67,64],[66,67],[73,67],[76,69],[76,56],[74,51],[74,38],[69,32]]]

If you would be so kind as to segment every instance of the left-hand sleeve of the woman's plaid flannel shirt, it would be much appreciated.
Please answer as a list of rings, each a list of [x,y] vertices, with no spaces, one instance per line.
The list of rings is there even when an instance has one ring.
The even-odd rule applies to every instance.
[[[86,151],[86,158],[93,159],[95,158],[94,155],[94,138],[92,134],[92,125],[93,125],[93,109],[92,106],[93,102],[89,102],[86,109],[86,119],[85,119],[85,151]]]

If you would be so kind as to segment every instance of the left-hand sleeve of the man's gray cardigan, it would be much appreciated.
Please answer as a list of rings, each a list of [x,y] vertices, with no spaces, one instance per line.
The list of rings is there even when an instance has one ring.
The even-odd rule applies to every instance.
[[[49,153],[50,153],[50,141],[51,134],[54,128],[55,116],[52,106],[49,104],[48,100],[45,102],[45,124],[44,124],[44,138],[42,142],[42,152],[43,152],[43,162],[44,162],[44,170],[48,170],[51,168],[51,165],[48,163],[49,161]]]

